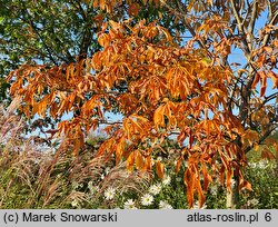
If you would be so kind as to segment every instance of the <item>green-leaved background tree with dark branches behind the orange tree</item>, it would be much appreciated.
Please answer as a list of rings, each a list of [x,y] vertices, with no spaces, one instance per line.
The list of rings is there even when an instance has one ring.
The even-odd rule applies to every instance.
[[[6,90],[9,87],[3,78],[19,65],[36,62],[51,67],[91,57],[100,48],[97,32],[102,21],[120,20],[128,14],[135,17],[135,22],[142,18],[152,21],[160,17],[160,23],[167,28],[185,30],[182,23],[172,23],[175,14],[161,18],[167,12],[155,3],[140,8],[142,1],[131,7],[128,2],[117,2],[111,11],[110,7],[97,8],[92,1],[85,0],[1,0],[0,98],[7,98]]]

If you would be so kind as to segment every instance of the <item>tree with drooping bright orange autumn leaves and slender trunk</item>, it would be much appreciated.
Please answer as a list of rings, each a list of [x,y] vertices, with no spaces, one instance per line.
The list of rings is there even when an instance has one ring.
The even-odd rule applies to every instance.
[[[12,71],[10,93],[22,100],[19,109],[28,118],[78,112],[61,121],[56,135],[66,136],[62,146],[75,155],[85,135],[103,125],[108,138],[98,155],[115,155],[116,165],[126,160],[129,170],[151,172],[155,151],[175,137],[179,147],[168,155],[176,157],[177,172],[187,164],[189,206],[197,196],[201,207],[209,184],[219,179],[228,189],[227,206],[235,208],[239,190],[251,190],[242,171],[246,154],[262,146],[262,158],[274,158],[270,148],[277,150],[269,138],[278,126],[277,3],[85,2],[107,13],[127,6],[129,17],[103,20],[97,33],[101,48],[91,58]],[[161,9],[157,20],[132,18],[150,6]],[[161,24],[165,17],[186,31]],[[107,112],[122,120],[109,121]],[[160,178],[165,165],[156,162]]]

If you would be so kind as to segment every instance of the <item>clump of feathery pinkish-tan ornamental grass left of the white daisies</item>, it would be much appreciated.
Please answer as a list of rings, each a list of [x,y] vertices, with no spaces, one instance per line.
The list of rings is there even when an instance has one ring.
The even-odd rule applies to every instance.
[[[22,135],[27,124],[14,114],[18,101],[8,110],[0,106],[0,208],[90,208],[109,186],[120,194],[148,187],[145,175],[128,172],[126,164],[113,167],[112,160],[96,157],[92,146],[86,145],[77,157],[69,155],[67,141],[59,149],[41,151],[43,140]],[[96,189],[93,196],[87,185]]]

